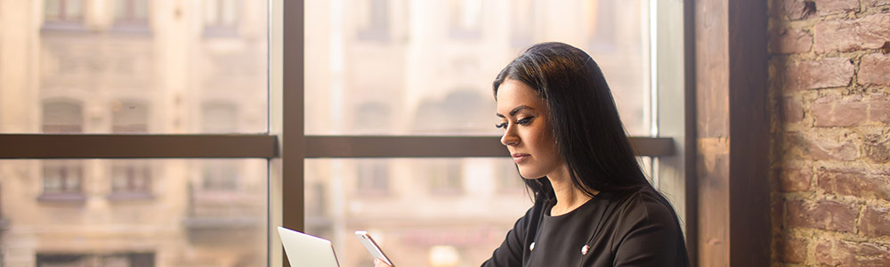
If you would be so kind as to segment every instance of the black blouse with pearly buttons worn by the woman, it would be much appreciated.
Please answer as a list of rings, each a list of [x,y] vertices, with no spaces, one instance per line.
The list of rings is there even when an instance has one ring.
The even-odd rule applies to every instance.
[[[559,216],[554,202],[535,199],[482,266],[689,266],[676,216],[651,187],[601,192]]]

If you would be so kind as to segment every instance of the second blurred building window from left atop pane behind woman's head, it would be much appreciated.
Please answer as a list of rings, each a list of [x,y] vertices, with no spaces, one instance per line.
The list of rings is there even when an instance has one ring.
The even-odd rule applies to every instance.
[[[481,0],[449,0],[449,36],[479,39],[482,28]]]

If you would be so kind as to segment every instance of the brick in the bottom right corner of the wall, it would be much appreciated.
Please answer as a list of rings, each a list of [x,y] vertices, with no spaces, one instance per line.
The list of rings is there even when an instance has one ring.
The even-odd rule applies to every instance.
[[[890,266],[890,251],[871,243],[823,239],[816,245],[816,263],[834,266]]]

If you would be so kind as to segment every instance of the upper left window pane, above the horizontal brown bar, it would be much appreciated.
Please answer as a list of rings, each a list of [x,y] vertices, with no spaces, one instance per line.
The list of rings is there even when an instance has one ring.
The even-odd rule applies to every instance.
[[[266,132],[267,1],[7,2],[0,133]]]

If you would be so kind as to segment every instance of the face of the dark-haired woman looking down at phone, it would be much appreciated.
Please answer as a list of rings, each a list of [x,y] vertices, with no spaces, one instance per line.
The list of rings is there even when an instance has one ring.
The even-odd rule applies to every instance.
[[[498,128],[519,173],[538,179],[556,172],[565,162],[556,152],[556,142],[546,103],[529,85],[506,79],[498,87]]]

